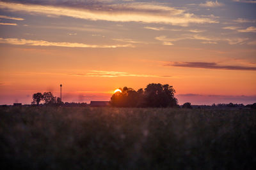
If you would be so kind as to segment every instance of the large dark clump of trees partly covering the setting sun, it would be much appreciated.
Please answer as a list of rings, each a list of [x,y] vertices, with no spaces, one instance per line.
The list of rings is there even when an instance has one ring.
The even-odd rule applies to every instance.
[[[160,83],[150,83],[145,89],[120,88],[111,97],[111,105],[126,108],[166,108],[177,107],[178,100],[174,97],[175,90],[172,86]]]

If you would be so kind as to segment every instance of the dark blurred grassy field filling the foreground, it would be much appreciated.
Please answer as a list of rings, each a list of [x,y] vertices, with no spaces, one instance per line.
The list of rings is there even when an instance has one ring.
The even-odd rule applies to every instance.
[[[256,111],[0,108],[2,169],[253,169]]]

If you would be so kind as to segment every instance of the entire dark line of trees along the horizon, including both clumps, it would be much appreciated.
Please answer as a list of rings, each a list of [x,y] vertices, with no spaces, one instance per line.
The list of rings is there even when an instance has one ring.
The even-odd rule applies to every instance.
[[[192,105],[184,103],[181,106],[178,100],[174,97],[175,90],[172,86],[160,83],[150,83],[145,89],[134,90],[132,88],[120,88],[122,92],[116,92],[111,97],[110,106],[122,108],[256,108],[256,103],[233,104],[219,103],[211,105]],[[44,102],[43,104],[40,102]],[[66,106],[66,107],[84,107],[90,106],[87,103],[63,103],[60,97],[55,97],[51,92],[38,92],[33,94],[31,105],[37,106]],[[3,105],[5,106],[5,105]],[[7,106],[7,105],[6,105]],[[29,105],[28,105],[29,106]]]

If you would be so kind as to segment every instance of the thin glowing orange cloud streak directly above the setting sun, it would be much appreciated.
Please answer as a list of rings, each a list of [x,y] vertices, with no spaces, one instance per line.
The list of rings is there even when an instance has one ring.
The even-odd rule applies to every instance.
[[[74,76],[87,76],[87,77],[120,77],[120,76],[136,76],[136,77],[155,77],[155,78],[170,78],[171,76],[157,76],[157,75],[147,75],[147,74],[131,74],[118,71],[96,71],[93,70],[90,73],[69,73],[69,75]]]

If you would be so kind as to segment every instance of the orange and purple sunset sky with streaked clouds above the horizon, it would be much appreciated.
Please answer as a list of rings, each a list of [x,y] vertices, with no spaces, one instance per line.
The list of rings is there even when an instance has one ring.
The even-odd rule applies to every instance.
[[[109,101],[172,85],[179,104],[256,102],[256,1],[0,1],[0,104]]]

